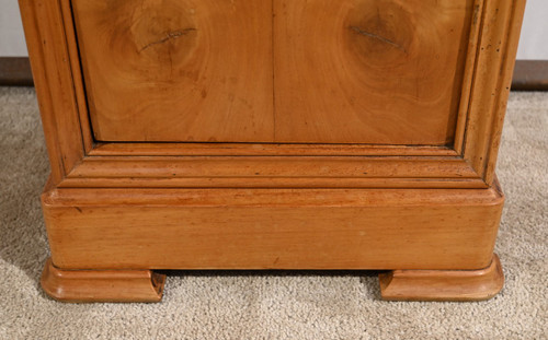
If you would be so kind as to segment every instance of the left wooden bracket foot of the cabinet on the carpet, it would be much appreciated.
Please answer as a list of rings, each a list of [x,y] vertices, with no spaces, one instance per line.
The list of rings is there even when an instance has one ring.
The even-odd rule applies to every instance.
[[[150,270],[61,270],[46,261],[41,284],[62,302],[159,302],[165,275]]]

